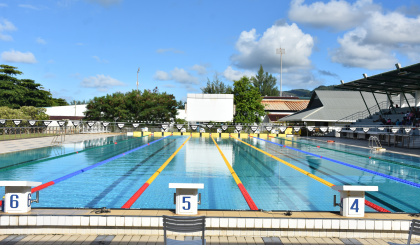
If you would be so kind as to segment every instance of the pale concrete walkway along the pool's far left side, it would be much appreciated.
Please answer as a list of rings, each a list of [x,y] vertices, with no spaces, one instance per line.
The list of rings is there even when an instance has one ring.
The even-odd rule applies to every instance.
[[[98,138],[116,136],[119,134],[72,134],[66,135],[66,143],[76,143],[85,140],[93,140]],[[0,154],[10,153],[15,151],[24,151],[42,147],[51,146],[53,137],[39,137],[39,138],[27,138],[27,139],[16,139],[16,140],[3,140],[0,141]]]

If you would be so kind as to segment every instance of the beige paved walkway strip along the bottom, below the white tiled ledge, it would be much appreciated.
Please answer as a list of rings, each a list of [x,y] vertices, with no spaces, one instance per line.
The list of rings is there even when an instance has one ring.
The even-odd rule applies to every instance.
[[[192,240],[191,236],[169,236],[177,240]],[[141,235],[3,235],[0,236],[0,244],[16,245],[70,245],[70,244],[137,244],[137,245],[163,245],[163,236],[141,236]],[[411,244],[417,244],[420,240],[412,240]],[[182,243],[180,243],[182,244]],[[201,244],[201,243],[200,243]],[[354,239],[354,238],[311,238],[311,237],[206,237],[206,244],[228,245],[228,244],[407,244],[407,240],[395,239]]]

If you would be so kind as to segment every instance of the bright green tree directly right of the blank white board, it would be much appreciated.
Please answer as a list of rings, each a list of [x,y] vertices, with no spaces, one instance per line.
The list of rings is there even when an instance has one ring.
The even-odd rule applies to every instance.
[[[261,94],[258,88],[252,85],[247,77],[242,77],[233,83],[236,123],[260,123],[265,115],[264,106],[261,104]]]

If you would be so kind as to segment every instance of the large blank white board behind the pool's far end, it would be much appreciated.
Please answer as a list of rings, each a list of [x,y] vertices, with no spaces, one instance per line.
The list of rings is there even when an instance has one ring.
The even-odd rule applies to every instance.
[[[188,122],[232,122],[233,94],[188,94],[185,113]]]

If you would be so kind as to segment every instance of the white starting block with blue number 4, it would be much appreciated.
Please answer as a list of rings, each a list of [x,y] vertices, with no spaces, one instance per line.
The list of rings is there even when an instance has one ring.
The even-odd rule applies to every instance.
[[[365,191],[378,191],[377,186],[338,185],[332,187],[340,192],[340,214],[344,217],[365,216]],[[334,196],[335,198],[335,196]]]

